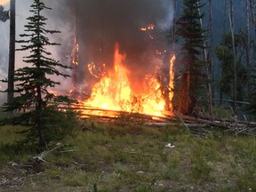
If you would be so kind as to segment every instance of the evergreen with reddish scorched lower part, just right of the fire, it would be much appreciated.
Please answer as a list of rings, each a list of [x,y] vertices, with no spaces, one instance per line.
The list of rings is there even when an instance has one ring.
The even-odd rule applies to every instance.
[[[202,73],[202,68],[205,66],[205,61],[202,60],[205,31],[200,23],[204,14],[199,12],[203,6],[204,4],[201,4],[199,0],[184,0],[183,13],[177,23],[176,34],[183,42],[180,60],[180,64],[183,65],[183,74],[180,82],[179,111],[188,115],[191,115],[196,107],[199,93],[205,84],[201,80],[205,79]]]

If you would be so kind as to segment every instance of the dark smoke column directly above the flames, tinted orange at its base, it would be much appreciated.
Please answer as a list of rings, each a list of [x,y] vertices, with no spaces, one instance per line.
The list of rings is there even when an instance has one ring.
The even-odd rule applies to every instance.
[[[156,50],[167,49],[167,30],[172,25],[172,0],[66,0],[71,28],[79,47],[79,80],[93,77],[88,63],[113,66],[115,44],[126,53],[126,65],[138,80],[155,69]],[[67,18],[66,18],[67,19]],[[140,28],[155,25],[153,31]],[[152,40],[151,37],[154,37]]]

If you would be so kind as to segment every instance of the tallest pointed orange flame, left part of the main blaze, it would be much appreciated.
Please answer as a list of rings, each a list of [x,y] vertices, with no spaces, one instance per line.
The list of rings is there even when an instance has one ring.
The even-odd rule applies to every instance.
[[[119,47],[115,50],[115,71],[103,76],[92,89],[91,99],[86,103],[93,107],[129,111],[132,90],[128,80],[128,70],[122,64],[125,54],[119,53]]]

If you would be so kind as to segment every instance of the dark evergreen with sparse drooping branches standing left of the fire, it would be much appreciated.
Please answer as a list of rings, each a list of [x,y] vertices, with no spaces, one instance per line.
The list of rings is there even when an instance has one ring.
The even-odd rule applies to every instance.
[[[46,51],[46,47],[58,45],[49,41],[48,35],[60,33],[60,31],[46,29],[46,18],[42,15],[46,7],[40,0],[34,0],[31,5],[30,12],[32,16],[28,17],[28,24],[25,25],[25,34],[20,35],[22,40],[18,41],[21,44],[19,51],[29,51],[31,54],[24,57],[24,62],[28,63],[28,67],[15,70],[14,81],[16,87],[14,92],[16,95],[12,102],[5,106],[6,111],[13,111],[21,108],[35,108],[34,110],[24,111],[20,116],[12,117],[4,120],[4,124],[24,124],[31,122],[33,126],[28,130],[28,138],[33,140],[39,139],[41,147],[45,148],[46,143],[53,136],[52,130],[48,129],[51,124],[54,124],[53,118],[62,118],[65,121],[67,117],[62,112],[58,111],[50,101],[70,101],[66,97],[54,96],[48,92],[48,88],[54,87],[59,82],[52,81],[51,76],[64,76],[58,68],[68,68],[59,61],[50,58],[51,52]],[[24,109],[25,110],[25,109]],[[54,119],[56,121],[56,119]],[[55,124],[60,127],[60,124]],[[55,132],[56,133],[56,132]],[[45,136],[46,135],[46,136]]]

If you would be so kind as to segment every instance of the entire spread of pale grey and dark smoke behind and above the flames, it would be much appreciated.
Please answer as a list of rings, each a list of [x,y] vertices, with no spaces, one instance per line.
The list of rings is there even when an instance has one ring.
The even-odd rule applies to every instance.
[[[16,1],[17,39],[28,22],[26,18],[31,15],[29,9],[32,2]],[[163,58],[158,57],[155,52],[168,49],[166,30],[172,25],[171,0],[44,0],[44,4],[52,8],[52,11],[44,12],[49,19],[47,28],[61,31],[60,35],[49,36],[53,42],[61,44],[59,47],[49,48],[49,51],[55,60],[70,65],[70,53],[76,36],[79,43],[78,84],[88,85],[89,90],[98,79],[89,73],[87,65],[91,62],[97,65],[105,63],[107,68],[112,68],[116,43],[120,44],[121,52],[127,55],[124,64],[132,71],[132,78],[138,81],[154,70],[156,63],[163,62]],[[9,4],[5,7],[8,10]],[[140,30],[148,28],[148,24],[154,24],[154,30]],[[0,23],[0,29],[0,75],[6,77],[9,21]],[[22,57],[26,55],[29,52],[16,53],[16,68],[26,65],[22,62]],[[60,89],[71,86],[71,79],[58,78],[62,83]],[[5,86],[0,85],[2,88]]]

